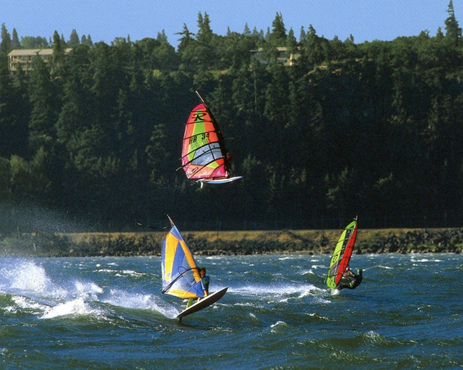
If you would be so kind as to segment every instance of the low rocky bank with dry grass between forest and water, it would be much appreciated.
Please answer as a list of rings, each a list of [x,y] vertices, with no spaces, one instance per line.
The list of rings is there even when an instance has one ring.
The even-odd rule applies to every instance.
[[[4,238],[8,256],[160,255],[165,232],[23,234]],[[194,254],[332,253],[342,230],[183,232]],[[461,253],[459,229],[359,229],[354,253]]]

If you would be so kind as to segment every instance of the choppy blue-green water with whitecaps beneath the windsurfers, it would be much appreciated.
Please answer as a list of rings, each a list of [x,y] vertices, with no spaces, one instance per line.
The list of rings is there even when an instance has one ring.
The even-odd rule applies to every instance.
[[[329,256],[197,257],[216,305],[185,317],[160,259],[0,260],[0,369],[462,369],[463,257],[353,256],[331,296]]]

